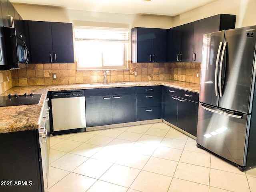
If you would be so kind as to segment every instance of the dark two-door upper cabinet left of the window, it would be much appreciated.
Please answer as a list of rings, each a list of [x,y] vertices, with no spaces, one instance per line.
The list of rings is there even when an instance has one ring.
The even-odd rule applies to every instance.
[[[28,21],[31,63],[74,63],[72,23]]]

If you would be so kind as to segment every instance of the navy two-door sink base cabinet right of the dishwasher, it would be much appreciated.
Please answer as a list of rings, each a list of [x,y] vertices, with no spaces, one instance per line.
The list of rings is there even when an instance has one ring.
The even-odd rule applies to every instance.
[[[136,87],[85,90],[86,127],[136,121]]]

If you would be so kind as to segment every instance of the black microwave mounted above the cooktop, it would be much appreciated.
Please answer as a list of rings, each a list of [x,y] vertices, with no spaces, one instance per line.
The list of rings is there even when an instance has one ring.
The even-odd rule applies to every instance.
[[[6,70],[27,66],[30,57],[26,46],[26,38],[16,28],[4,27],[5,52],[7,58]]]

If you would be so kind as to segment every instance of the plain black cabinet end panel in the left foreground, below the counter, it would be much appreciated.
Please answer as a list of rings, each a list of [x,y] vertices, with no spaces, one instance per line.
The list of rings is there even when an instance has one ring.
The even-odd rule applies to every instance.
[[[2,133],[0,146],[0,191],[44,192],[38,130]]]

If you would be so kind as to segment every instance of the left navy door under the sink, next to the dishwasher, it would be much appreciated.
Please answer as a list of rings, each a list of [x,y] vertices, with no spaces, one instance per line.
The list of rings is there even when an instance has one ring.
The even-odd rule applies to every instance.
[[[86,127],[112,124],[111,96],[86,97]]]

